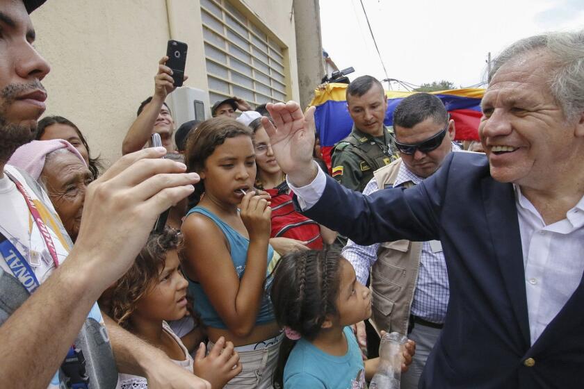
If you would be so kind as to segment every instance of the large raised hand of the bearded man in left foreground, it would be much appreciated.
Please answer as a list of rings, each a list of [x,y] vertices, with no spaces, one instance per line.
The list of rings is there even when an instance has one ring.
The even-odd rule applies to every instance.
[[[193,192],[199,181],[186,166],[161,159],[163,147],[117,160],[88,186],[81,228],[71,254],[83,257],[97,296],[126,272],[164,210]]]

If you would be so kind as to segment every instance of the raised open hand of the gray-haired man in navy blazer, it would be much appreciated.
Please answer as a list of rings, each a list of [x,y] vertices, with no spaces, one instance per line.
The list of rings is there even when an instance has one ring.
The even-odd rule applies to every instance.
[[[314,149],[314,107],[302,114],[295,101],[267,104],[266,108],[275,126],[267,117],[261,124],[270,136],[270,143],[278,165],[288,174],[289,180],[297,186],[309,183],[316,176],[317,167],[312,161]]]

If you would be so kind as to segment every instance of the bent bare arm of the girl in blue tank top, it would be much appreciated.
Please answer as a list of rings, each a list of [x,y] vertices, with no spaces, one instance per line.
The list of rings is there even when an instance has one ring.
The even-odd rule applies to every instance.
[[[229,331],[240,338],[254,329],[263,297],[270,238],[271,210],[267,205],[265,198],[250,192],[241,201],[241,219],[250,235],[241,280],[234,269],[225,236],[213,221],[195,214],[187,217],[182,226],[186,272],[200,282]]]

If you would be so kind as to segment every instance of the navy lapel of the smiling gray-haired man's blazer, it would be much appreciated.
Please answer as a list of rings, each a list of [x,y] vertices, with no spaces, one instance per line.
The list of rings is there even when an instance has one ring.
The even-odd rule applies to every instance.
[[[513,187],[509,183],[494,181],[490,176],[485,177],[481,185],[493,252],[501,267],[503,282],[521,335],[525,344],[530,345],[525,269]]]

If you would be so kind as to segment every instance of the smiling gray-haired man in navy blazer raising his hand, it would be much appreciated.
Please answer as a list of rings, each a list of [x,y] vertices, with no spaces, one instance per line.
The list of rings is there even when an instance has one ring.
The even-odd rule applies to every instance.
[[[516,42],[491,76],[479,128],[487,156],[454,153],[407,190],[365,197],[319,172],[314,108],[268,105],[277,129],[264,126],[311,219],[364,245],[441,240],[451,299],[421,388],[580,387],[584,31]]]

